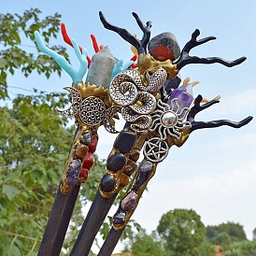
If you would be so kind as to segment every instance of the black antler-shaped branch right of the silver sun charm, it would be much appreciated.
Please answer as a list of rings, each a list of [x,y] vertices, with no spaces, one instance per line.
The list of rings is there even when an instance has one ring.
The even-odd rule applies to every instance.
[[[231,126],[233,128],[240,128],[246,124],[249,123],[249,121],[252,120],[252,117],[249,116],[248,118],[242,120],[242,121],[229,121],[229,120],[218,120],[218,121],[194,121],[194,116],[199,113],[200,111],[206,109],[207,107],[211,107],[212,105],[219,103],[219,100],[211,100],[208,103],[204,105],[200,105],[200,102],[202,101],[203,97],[202,95],[198,95],[195,98],[194,106],[192,107],[189,115],[188,115],[188,121],[192,122],[192,127],[190,129],[191,133],[198,129],[204,129],[204,128],[215,128],[220,127],[222,125]]]

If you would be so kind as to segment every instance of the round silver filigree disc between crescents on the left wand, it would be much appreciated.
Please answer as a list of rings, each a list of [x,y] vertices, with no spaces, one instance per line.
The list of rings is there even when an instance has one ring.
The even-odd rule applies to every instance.
[[[95,126],[104,120],[106,107],[104,102],[97,97],[84,99],[80,106],[80,121],[89,126]]]

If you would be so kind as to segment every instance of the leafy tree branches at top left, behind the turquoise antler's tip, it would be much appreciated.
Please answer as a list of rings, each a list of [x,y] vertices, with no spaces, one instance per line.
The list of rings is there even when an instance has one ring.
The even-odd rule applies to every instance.
[[[33,71],[38,74],[57,72],[61,76],[61,68],[49,56],[40,53],[34,41],[34,32],[39,30],[48,43],[50,37],[57,36],[60,28],[61,15],[40,17],[41,11],[31,8],[20,14],[0,13],[0,99],[7,97],[7,76],[14,75],[16,70],[28,77]],[[29,48],[26,48],[26,46]],[[24,48],[26,50],[24,50]],[[65,49],[61,46],[52,46],[52,50],[64,55],[68,60]],[[28,49],[31,52],[28,52]]]

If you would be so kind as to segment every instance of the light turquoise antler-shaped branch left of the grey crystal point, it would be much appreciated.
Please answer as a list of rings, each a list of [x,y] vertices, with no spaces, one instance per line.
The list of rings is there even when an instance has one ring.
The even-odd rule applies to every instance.
[[[38,31],[35,32],[35,40],[37,43],[38,48],[48,54],[54,61],[59,64],[64,71],[72,78],[75,85],[78,84],[78,82],[82,81],[83,76],[87,72],[87,51],[84,49],[82,50],[82,53],[78,49],[78,44],[75,41],[75,39],[71,39],[72,45],[74,47],[74,50],[76,52],[76,55],[78,57],[78,61],[80,63],[80,66],[78,70],[74,69],[71,64],[69,64],[64,56],[60,55],[59,53],[55,52],[54,50],[50,50],[44,43],[43,40],[39,34]]]

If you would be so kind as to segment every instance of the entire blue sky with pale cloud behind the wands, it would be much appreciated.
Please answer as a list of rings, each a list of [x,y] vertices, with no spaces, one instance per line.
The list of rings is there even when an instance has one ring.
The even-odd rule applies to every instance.
[[[172,32],[180,48],[190,40],[196,28],[201,31],[199,38],[217,36],[217,40],[193,49],[191,55],[220,56],[226,60],[246,56],[248,59],[233,68],[220,64],[190,64],[181,70],[182,79],[190,77],[192,81],[200,81],[194,87],[194,96],[201,93],[212,99],[221,95],[220,104],[206,109],[197,120],[240,121],[249,115],[255,116],[256,2],[253,0],[3,2],[2,13],[21,13],[38,7],[43,16],[62,14],[68,34],[78,45],[86,47],[90,56],[93,54],[90,34],[96,36],[99,44],[107,45],[117,58],[128,61],[133,55],[128,43],[103,27],[98,18],[99,10],[111,23],[140,37],[141,31],[132,16],[135,11],[142,21],[152,21],[151,36]],[[52,39],[52,45],[55,43]],[[64,45],[61,33],[57,43]],[[70,49],[69,54],[72,64],[78,65],[73,50]],[[71,79],[65,74],[49,80],[37,74],[26,79],[18,74],[8,82],[27,89],[61,92],[64,86],[71,84]],[[107,135],[103,128],[99,135],[97,153],[100,158],[107,158],[115,135]],[[238,130],[220,127],[195,131],[182,148],[170,149],[168,158],[149,182],[149,192],[143,195],[134,219],[150,232],[166,211],[192,208],[206,225],[228,220],[239,222],[250,239],[256,227],[255,152],[255,120]]]

